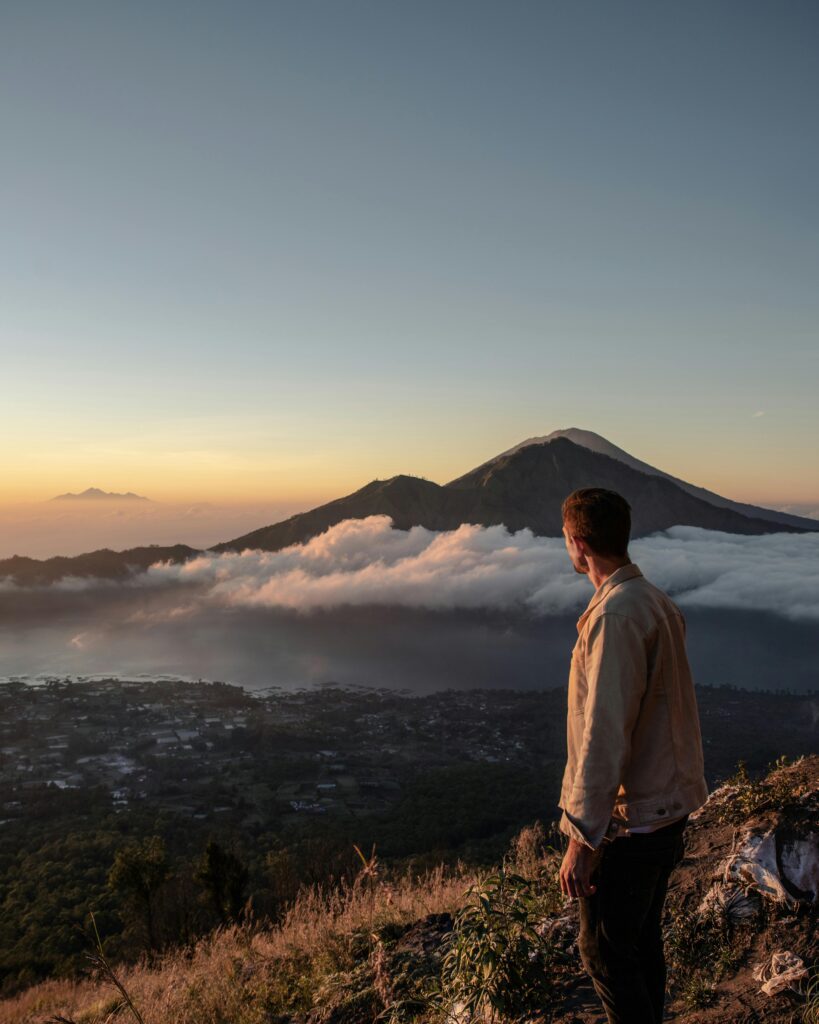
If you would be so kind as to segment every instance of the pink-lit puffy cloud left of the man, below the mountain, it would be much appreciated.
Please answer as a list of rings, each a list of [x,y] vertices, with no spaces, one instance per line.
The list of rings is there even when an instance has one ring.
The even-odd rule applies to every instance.
[[[347,519],[304,545],[277,552],[201,556],[163,563],[142,586],[196,584],[210,601],[309,610],[387,604],[444,609],[562,611],[583,600],[584,581],[566,572],[562,542],[464,524],[436,532],[392,528],[389,516]]]

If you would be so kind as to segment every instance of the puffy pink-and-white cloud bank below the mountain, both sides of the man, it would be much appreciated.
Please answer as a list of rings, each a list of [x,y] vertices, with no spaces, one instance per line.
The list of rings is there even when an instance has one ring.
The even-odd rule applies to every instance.
[[[676,526],[635,541],[630,550],[644,574],[682,607],[819,620],[819,534],[739,537]],[[448,532],[423,526],[404,531],[393,529],[385,515],[347,519],[283,551],[158,563],[132,584],[179,585],[196,596],[176,614],[205,602],[305,612],[379,604],[548,615],[578,611],[591,596],[561,539],[471,524]]]

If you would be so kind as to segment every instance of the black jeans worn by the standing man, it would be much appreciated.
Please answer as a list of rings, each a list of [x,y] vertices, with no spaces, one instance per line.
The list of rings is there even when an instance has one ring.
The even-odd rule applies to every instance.
[[[620,836],[599,848],[580,897],[583,965],[609,1024],[660,1024],[665,1001],[662,904],[669,876],[683,859],[688,815],[653,833]]]

